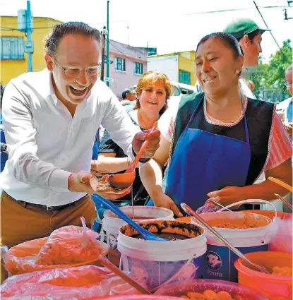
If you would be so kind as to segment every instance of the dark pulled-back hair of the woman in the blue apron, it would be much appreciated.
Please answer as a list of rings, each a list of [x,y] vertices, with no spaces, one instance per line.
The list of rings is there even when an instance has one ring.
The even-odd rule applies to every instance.
[[[229,49],[232,50],[234,53],[235,59],[239,55],[243,55],[242,49],[240,47],[239,42],[236,40],[236,38],[233,35],[230,35],[229,33],[226,32],[213,32],[210,33],[210,35],[205,35],[199,42],[196,47],[196,52],[198,51],[198,47],[209,40],[210,38],[215,38],[221,40]],[[239,77],[241,76],[241,71],[239,72]]]

